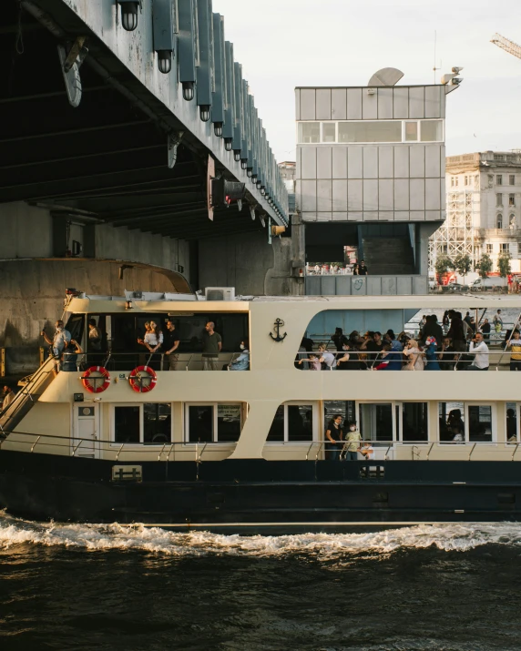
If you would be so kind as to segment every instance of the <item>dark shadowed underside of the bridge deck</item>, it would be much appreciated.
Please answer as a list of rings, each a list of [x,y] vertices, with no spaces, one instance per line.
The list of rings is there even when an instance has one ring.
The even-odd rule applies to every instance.
[[[98,42],[89,44],[80,71],[83,97],[71,107],[58,40],[26,11],[19,15],[15,0],[5,5],[0,203],[23,200],[53,214],[77,214],[176,239],[262,229],[248,209],[236,206],[216,209],[209,219],[207,151],[188,134],[175,167],[168,167],[165,133],[149,108],[142,110],[146,103],[125,97],[99,74],[101,65],[127,87],[134,81],[136,97],[147,92],[116,56]]]

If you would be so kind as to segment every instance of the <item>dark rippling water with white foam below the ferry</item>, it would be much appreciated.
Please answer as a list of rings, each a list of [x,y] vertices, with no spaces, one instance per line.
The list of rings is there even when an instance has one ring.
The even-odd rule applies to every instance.
[[[225,536],[0,514],[0,648],[520,648],[521,524]]]

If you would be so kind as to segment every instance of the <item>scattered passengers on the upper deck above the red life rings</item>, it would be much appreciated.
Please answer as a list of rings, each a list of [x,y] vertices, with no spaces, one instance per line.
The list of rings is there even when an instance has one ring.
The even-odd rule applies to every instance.
[[[72,339],[66,330],[63,320],[56,320],[55,332],[52,338],[46,331],[41,336],[50,346],[50,353],[56,359],[56,371],[77,371],[84,351],[77,341]],[[215,331],[215,323],[209,321],[201,334],[202,366],[204,371],[248,371],[250,369],[250,345],[247,339],[240,342],[240,353],[230,363],[220,365],[219,355],[222,349],[222,338]],[[101,353],[103,333],[97,327],[95,319],[88,320],[87,348],[89,353]],[[162,371],[177,371],[179,364],[179,336],[176,325],[167,320],[163,332],[155,321],[145,323],[143,337],[138,337],[138,344],[146,349],[150,356],[160,355]]]

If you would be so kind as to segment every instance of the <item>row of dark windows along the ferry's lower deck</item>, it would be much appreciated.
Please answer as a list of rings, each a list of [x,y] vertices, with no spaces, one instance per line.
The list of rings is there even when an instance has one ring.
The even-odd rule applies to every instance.
[[[519,441],[521,403],[506,403],[506,438]],[[438,402],[440,442],[495,442],[495,404]],[[428,402],[324,402],[324,432],[328,422],[342,416],[342,429],[356,422],[364,440],[373,442],[428,442]],[[187,443],[237,442],[246,418],[246,405],[200,403],[185,405]],[[319,406],[316,402],[281,404],[275,413],[267,442],[319,440]],[[432,437],[431,437],[432,439]],[[116,443],[163,445],[172,441],[170,403],[115,405],[113,437]]]

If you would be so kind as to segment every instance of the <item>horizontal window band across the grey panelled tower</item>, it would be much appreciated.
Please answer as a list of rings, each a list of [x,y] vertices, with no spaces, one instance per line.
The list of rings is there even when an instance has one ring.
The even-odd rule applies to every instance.
[[[358,120],[356,122],[299,122],[298,142],[372,143],[441,142],[443,120]]]

